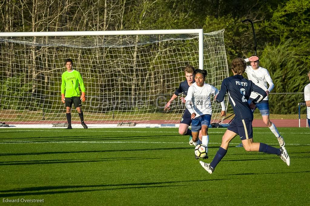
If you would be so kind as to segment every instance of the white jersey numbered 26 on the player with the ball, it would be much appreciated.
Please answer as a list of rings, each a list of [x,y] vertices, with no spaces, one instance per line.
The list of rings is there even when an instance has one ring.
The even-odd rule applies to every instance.
[[[210,84],[204,83],[202,87],[199,87],[195,82],[188,88],[185,106],[191,114],[196,113],[195,118],[204,114],[212,115],[211,94],[216,95],[218,93],[217,88]],[[222,111],[225,111],[224,101],[221,102],[221,106]]]

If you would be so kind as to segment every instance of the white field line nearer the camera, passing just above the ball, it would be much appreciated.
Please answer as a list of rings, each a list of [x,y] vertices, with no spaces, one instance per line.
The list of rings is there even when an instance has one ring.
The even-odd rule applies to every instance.
[[[148,144],[188,144],[188,142],[143,142],[143,141],[23,141],[23,140],[6,140],[0,142],[0,144],[72,144],[72,143],[95,143],[95,144],[116,144],[116,143],[148,143]],[[218,142],[210,142],[209,144],[221,144]],[[230,143],[230,144],[240,144],[240,143]],[[310,144],[286,144],[286,145],[310,145]]]

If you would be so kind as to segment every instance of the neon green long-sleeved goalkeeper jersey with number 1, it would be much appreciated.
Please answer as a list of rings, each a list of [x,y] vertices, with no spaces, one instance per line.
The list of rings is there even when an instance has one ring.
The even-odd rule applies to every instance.
[[[78,85],[82,92],[85,92],[85,87],[81,74],[72,70],[71,72],[65,71],[61,75],[61,93],[65,94],[64,97],[78,97],[81,96]],[[66,93],[64,93],[66,92]]]

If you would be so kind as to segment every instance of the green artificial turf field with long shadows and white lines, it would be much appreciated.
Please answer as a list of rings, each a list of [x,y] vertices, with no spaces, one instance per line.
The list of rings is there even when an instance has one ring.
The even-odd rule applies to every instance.
[[[224,128],[209,129],[209,160]],[[177,128],[0,129],[0,197],[36,205],[308,205],[309,128],[279,128],[291,158],[236,148],[213,174]],[[278,147],[268,128],[254,140]],[[6,205],[15,205],[6,203]],[[33,204],[33,203],[32,203]]]

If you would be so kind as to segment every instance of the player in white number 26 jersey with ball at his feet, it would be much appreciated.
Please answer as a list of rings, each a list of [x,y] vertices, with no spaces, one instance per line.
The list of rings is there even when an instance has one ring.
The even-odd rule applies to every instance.
[[[212,115],[211,94],[216,95],[218,90],[210,84],[205,83],[207,75],[206,70],[196,69],[194,71],[194,75],[195,83],[188,88],[188,92],[185,97],[185,106],[191,113],[193,144],[195,146],[199,144],[198,134],[201,130],[201,142],[208,148],[208,128]],[[221,105],[221,116],[225,116],[226,108],[224,101],[221,102]],[[196,156],[195,158],[198,159]]]

